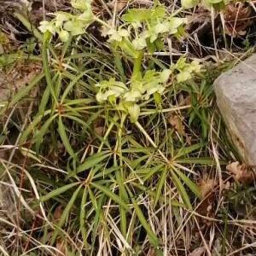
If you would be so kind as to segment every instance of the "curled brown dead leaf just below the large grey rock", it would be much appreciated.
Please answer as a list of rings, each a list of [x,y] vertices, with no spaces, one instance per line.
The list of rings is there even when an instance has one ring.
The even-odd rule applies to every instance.
[[[253,171],[251,171],[247,165],[241,165],[236,161],[226,166],[226,169],[233,174],[233,177],[238,183],[253,183]]]

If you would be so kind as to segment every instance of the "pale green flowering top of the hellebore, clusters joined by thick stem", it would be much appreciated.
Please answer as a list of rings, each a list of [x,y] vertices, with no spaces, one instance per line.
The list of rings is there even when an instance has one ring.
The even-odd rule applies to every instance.
[[[92,22],[100,23],[110,49],[120,49],[133,63],[133,70],[131,77],[122,81],[114,78],[99,81],[96,84],[96,101],[109,105],[125,117],[129,116],[132,123],[137,123],[141,103],[154,99],[156,106],[160,106],[161,96],[172,74],[177,83],[181,83],[191,79],[193,73],[200,72],[198,61],[188,63],[184,58],[161,71],[142,68],[146,54],[164,49],[166,37],[172,35],[179,39],[185,34],[187,20],[177,17],[178,11],[170,15],[164,5],[154,3],[152,9],[130,9],[122,16],[123,24],[113,27],[93,14],[91,0],[72,0],[71,3],[76,9],[75,14],[56,12],[53,20],[41,22],[40,31],[57,34],[62,42],[67,42],[84,34]],[[139,128],[141,130],[142,127]]]

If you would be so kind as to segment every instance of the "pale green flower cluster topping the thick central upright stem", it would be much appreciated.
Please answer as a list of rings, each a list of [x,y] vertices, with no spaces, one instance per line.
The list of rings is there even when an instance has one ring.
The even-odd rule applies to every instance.
[[[120,48],[133,50],[160,48],[162,39],[168,35],[179,38],[183,35],[183,25],[187,20],[170,16],[163,5],[153,9],[131,9],[122,16],[128,27],[119,30],[109,29],[108,41]],[[128,52],[129,53],[129,52]]]

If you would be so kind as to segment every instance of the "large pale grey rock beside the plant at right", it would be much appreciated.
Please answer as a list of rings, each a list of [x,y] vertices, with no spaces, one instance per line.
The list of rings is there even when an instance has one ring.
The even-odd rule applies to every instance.
[[[214,82],[217,104],[241,157],[256,166],[256,54]]]

